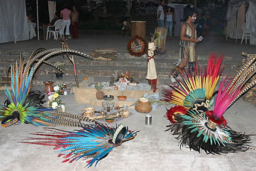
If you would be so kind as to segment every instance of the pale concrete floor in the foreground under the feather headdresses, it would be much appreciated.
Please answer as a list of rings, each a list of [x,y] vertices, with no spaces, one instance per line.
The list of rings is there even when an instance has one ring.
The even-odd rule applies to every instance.
[[[43,87],[37,87],[43,90]],[[0,104],[5,101],[4,92],[0,92]],[[73,94],[61,96],[66,103],[66,111],[81,114],[87,104],[77,104]],[[100,110],[101,107],[96,107]],[[243,101],[237,101],[225,113],[228,125],[236,131],[256,132],[256,108]],[[164,118],[165,107],[151,111],[152,125],[145,125],[145,114],[137,113],[120,121],[131,130],[140,130],[134,140],[123,143],[114,149],[97,167],[88,170],[256,170],[256,152],[249,150],[237,154],[206,155],[180,150],[178,141],[170,132],[165,132],[169,121]],[[60,128],[71,131],[76,128]],[[28,145],[19,143],[24,138],[32,137],[29,133],[42,131],[42,126],[14,125],[0,128],[0,170],[86,170],[86,161],[79,160],[71,164],[61,163],[58,152],[52,146]],[[256,145],[256,137],[252,136],[252,145]]]

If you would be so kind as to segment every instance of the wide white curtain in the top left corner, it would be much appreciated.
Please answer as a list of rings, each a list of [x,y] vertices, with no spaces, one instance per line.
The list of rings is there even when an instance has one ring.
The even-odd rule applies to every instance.
[[[28,39],[25,0],[1,0],[0,43]]]

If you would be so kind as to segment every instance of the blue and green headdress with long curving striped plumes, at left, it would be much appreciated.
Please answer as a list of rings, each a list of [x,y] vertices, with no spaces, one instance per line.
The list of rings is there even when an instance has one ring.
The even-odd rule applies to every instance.
[[[22,123],[31,123],[33,125],[43,126],[83,126],[84,123],[80,123],[79,120],[86,122],[95,122],[82,116],[75,116],[69,113],[61,113],[59,111],[42,111],[36,107],[25,104],[25,99],[31,89],[31,81],[36,69],[42,63],[49,64],[56,69],[63,72],[54,64],[45,61],[53,55],[71,53],[80,55],[86,58],[92,59],[89,55],[83,52],[75,51],[72,49],[37,49],[31,54],[27,62],[24,62],[22,55],[20,55],[19,64],[16,62],[16,66],[10,66],[11,70],[11,90],[5,86],[5,95],[7,96],[7,107],[0,107],[0,122],[3,127],[11,126],[14,123],[20,121]],[[68,119],[66,118],[68,117]],[[70,117],[72,119],[70,119]]]

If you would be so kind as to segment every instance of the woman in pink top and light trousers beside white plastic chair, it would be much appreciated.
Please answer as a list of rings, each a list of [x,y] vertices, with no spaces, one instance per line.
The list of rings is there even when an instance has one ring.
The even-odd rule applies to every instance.
[[[70,39],[69,26],[70,26],[70,14],[71,11],[67,9],[67,5],[60,11],[60,17],[62,17],[62,26],[60,30],[61,36],[64,36],[64,29],[66,27],[66,38]]]

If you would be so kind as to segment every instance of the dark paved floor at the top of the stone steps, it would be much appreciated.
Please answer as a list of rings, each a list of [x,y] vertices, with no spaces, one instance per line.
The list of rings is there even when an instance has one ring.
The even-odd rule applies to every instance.
[[[111,48],[116,49],[117,52],[127,52],[127,43],[131,39],[130,36],[111,35],[111,34],[80,34],[79,39],[69,39],[67,43],[71,49],[77,49],[83,52],[92,52],[95,48]],[[149,36],[146,37],[149,40]],[[210,33],[208,38],[198,44],[198,55],[207,55],[211,52],[216,54],[222,53],[226,56],[238,56],[241,52],[248,54],[255,53],[255,46],[246,45],[245,42],[241,45],[241,40],[226,40],[225,37],[221,37],[220,33]],[[60,42],[49,39],[40,40],[32,39],[22,42],[9,42],[1,43],[0,50],[16,50],[16,51],[34,51],[37,48],[60,48]],[[168,54],[178,55],[179,49],[179,37],[173,39],[167,39],[166,50]]]

